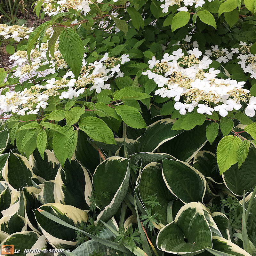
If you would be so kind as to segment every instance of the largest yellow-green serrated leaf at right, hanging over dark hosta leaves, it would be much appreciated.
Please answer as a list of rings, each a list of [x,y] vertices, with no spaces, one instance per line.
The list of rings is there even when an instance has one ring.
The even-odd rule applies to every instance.
[[[217,147],[217,163],[220,174],[226,172],[233,164],[236,164],[236,150],[241,142],[240,138],[233,135],[228,135],[220,140]]]

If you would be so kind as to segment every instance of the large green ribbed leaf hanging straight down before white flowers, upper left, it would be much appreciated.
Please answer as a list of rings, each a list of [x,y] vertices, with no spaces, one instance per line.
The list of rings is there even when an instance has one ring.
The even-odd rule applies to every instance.
[[[63,59],[68,63],[77,78],[82,68],[84,56],[84,45],[80,36],[71,28],[62,30],[59,49]]]

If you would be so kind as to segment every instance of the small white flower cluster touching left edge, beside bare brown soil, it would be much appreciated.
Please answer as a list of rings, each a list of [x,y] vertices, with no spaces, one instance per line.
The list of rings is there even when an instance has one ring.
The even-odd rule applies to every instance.
[[[10,39],[20,42],[22,39],[28,39],[29,34],[33,32],[34,27],[24,27],[24,25],[12,25],[0,24],[0,36],[4,39]]]

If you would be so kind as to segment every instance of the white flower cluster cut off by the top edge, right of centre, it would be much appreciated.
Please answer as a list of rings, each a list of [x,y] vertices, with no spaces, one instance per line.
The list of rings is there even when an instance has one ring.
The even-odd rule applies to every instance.
[[[195,8],[202,7],[205,4],[204,0],[158,0],[160,2],[164,2],[164,4],[161,4],[160,7],[163,8],[162,12],[167,13],[168,8],[173,5],[178,5],[180,8],[177,9],[177,11],[184,11],[188,12],[187,6],[192,6],[195,4]],[[214,0],[208,0],[208,2],[212,2]],[[185,6],[182,6],[185,5]]]

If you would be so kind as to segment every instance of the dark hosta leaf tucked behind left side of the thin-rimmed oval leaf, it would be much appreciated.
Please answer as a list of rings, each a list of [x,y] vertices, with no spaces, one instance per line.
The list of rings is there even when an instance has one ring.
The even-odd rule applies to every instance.
[[[137,196],[142,200],[145,207],[150,208],[145,202],[149,195],[157,195],[156,201],[160,205],[154,206],[154,213],[157,213],[157,221],[167,224],[167,205],[175,196],[164,186],[161,164],[152,162],[146,165],[137,180],[135,188]]]

